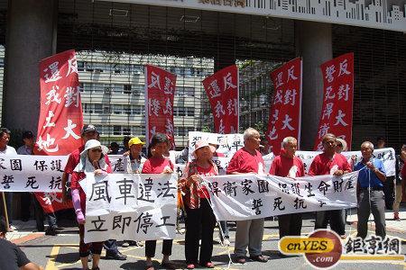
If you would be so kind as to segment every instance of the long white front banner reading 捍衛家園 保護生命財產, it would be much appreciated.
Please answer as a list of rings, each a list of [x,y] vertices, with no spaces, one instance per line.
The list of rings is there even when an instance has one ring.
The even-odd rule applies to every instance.
[[[294,212],[356,207],[358,172],[296,180],[273,175],[203,176],[217,220],[252,220]]]

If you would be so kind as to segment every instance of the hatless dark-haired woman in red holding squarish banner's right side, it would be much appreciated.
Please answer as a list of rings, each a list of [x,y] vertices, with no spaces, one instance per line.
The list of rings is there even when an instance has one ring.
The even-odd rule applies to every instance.
[[[164,157],[163,154],[168,151],[168,138],[161,133],[153,135],[149,147],[150,156],[143,164],[143,174],[171,174],[173,173],[173,164],[171,160]],[[162,262],[161,266],[173,268],[169,257],[172,253],[172,239],[164,239],[162,244]],[[145,241],[146,269],[154,270],[152,266],[152,257],[155,257],[156,240]]]

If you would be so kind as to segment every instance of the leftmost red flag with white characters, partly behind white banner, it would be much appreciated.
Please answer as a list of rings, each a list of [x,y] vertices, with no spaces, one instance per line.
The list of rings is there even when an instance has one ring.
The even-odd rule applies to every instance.
[[[36,155],[68,155],[82,144],[82,105],[75,50],[70,49],[40,62],[41,110]],[[61,193],[35,193],[44,211],[71,207]]]

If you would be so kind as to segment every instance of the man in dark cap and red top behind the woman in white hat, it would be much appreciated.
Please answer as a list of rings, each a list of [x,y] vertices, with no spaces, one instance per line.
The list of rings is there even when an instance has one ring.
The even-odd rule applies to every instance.
[[[68,181],[69,175],[73,173],[73,170],[80,161],[80,153],[85,149],[85,144],[89,139],[98,139],[98,132],[94,125],[85,125],[82,129],[82,139],[83,145],[73,152],[70,153],[68,157],[68,162],[66,163],[65,169],[62,175],[62,199],[64,202],[68,200],[66,183]],[[110,160],[107,155],[105,155],[106,164],[110,164]],[[117,241],[114,239],[109,239],[105,241],[104,247],[106,248],[106,259],[116,259],[116,260],[125,260],[127,257],[118,251]]]

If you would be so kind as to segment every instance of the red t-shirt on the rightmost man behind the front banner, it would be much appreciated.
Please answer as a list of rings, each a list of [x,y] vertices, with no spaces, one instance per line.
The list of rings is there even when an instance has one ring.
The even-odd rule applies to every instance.
[[[329,175],[334,166],[337,166],[338,170],[351,171],[351,166],[343,155],[336,153],[333,158],[329,159],[325,153],[322,153],[314,157],[308,175]]]

